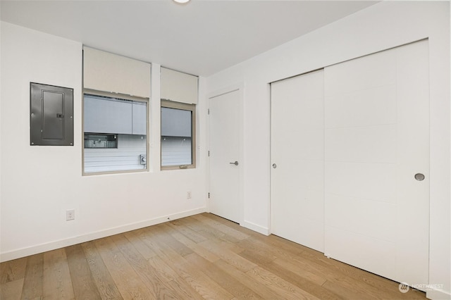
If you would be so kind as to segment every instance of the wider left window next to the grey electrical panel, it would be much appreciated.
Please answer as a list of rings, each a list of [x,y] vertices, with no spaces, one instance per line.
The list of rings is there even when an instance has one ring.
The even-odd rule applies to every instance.
[[[101,92],[83,101],[83,171],[147,170],[147,99]]]

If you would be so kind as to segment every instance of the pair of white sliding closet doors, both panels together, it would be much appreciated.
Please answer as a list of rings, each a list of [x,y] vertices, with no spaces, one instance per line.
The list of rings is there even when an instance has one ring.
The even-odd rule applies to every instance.
[[[428,42],[271,84],[271,163],[273,234],[428,283]]]

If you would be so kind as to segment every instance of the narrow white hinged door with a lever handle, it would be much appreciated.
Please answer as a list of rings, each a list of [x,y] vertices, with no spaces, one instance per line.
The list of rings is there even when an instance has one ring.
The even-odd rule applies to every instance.
[[[209,99],[210,212],[240,223],[242,91]]]

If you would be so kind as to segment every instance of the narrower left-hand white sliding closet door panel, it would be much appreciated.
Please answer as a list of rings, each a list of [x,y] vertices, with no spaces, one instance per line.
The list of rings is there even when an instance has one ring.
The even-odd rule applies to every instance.
[[[271,84],[271,233],[323,251],[323,70]]]

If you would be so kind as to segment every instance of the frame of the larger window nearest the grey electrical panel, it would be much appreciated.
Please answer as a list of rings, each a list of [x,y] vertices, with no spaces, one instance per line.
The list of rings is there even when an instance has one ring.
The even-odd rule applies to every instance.
[[[82,89],[82,176],[95,176],[95,175],[106,175],[106,174],[126,174],[126,173],[142,173],[149,172],[149,159],[147,159],[146,168],[144,169],[132,169],[132,170],[112,170],[112,171],[99,171],[99,172],[85,172],[85,95],[101,96],[111,99],[123,99],[130,101],[138,101],[146,103],[146,158],[149,158],[149,118],[150,118],[150,99],[140,96],[131,96],[128,94],[120,94],[115,92],[104,92],[98,91],[96,89]],[[87,132],[89,133],[89,132]]]

